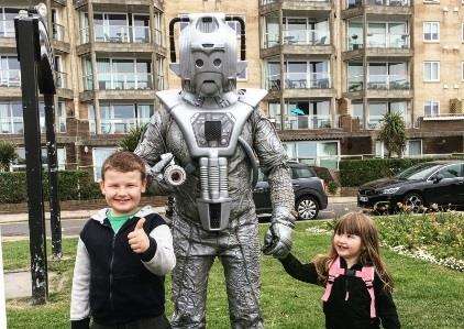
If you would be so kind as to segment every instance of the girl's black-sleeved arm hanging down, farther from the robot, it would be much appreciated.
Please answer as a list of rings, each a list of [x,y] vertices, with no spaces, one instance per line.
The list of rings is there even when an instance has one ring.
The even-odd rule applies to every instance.
[[[385,329],[400,328],[398,312],[394,303],[391,294],[384,289],[384,283],[378,277],[377,273],[374,278],[375,305],[377,309],[377,317],[382,321]]]

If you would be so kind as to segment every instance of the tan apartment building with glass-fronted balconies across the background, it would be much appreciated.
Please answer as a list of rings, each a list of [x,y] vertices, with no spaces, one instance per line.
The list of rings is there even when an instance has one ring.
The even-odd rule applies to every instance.
[[[180,87],[167,69],[169,20],[216,11],[245,20],[248,68],[239,88],[268,90],[261,108],[291,158],[336,167],[342,157],[383,156],[377,135],[388,111],[400,113],[407,124],[406,155],[464,152],[461,0],[45,3],[56,55],[62,168],[93,168],[98,178],[118,141],[156,110],[156,90]],[[30,4],[0,2],[0,139],[15,142],[20,156],[13,19]],[[240,25],[230,24],[239,37]]]

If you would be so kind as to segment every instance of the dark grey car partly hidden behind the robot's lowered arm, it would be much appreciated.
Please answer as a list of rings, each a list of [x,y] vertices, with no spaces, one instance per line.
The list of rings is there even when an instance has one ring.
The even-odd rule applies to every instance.
[[[325,209],[328,197],[324,182],[306,164],[289,162],[291,184],[295,191],[295,210],[298,219],[314,219],[319,210]],[[256,213],[270,213],[270,193],[267,177],[259,171],[259,178],[253,191]]]

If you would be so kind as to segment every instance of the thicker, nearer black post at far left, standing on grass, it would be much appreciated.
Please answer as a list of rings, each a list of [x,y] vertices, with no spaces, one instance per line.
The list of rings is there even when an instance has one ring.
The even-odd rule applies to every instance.
[[[42,190],[41,129],[36,61],[40,54],[37,19],[21,15],[14,20],[18,57],[21,65],[24,147],[27,177],[27,209],[31,250],[32,303],[48,297],[45,212]]]

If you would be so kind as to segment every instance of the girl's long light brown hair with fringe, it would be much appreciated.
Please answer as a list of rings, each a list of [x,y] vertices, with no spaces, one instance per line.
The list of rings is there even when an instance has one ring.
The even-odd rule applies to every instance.
[[[361,254],[358,262],[363,265],[375,267],[378,276],[384,283],[386,290],[393,290],[393,279],[388,274],[385,263],[380,259],[378,232],[374,221],[365,213],[349,212],[336,221],[333,228],[332,243],[327,255],[318,255],[314,259],[316,270],[318,272],[319,282],[327,283],[329,268],[332,262],[339,256],[333,245],[333,237],[335,234],[355,234],[361,238]]]

